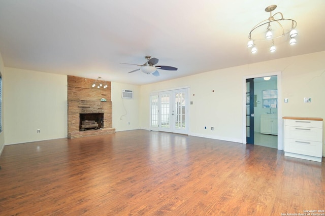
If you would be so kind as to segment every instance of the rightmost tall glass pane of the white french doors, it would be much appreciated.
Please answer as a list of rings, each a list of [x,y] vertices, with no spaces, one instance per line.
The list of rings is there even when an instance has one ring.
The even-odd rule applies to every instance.
[[[175,129],[185,129],[185,92],[175,93]]]

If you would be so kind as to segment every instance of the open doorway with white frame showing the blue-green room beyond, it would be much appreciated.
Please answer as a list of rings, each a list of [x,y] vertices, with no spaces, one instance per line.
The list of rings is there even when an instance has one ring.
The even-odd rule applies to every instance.
[[[281,72],[244,78],[243,143],[283,150]]]

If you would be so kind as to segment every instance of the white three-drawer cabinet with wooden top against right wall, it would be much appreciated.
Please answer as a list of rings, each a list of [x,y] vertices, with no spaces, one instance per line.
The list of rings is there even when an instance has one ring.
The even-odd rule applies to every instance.
[[[284,155],[321,162],[321,118],[283,117]]]

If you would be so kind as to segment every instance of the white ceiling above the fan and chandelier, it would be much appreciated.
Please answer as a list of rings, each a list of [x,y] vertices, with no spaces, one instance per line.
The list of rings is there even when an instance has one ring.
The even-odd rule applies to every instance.
[[[251,54],[248,33],[269,5],[297,21],[298,43],[284,36],[270,53],[269,41],[256,42]],[[324,51],[324,9],[324,0],[0,0],[0,52],[7,67],[141,85]],[[154,77],[120,64],[146,55],[178,70]]]

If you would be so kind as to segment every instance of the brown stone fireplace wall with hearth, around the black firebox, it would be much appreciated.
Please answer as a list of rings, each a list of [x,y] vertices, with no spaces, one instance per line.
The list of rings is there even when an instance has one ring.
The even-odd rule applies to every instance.
[[[92,88],[95,80],[68,76],[68,138],[115,133],[112,128],[111,82],[108,87]],[[101,101],[105,98],[106,101]],[[79,114],[104,113],[104,128],[80,131]]]

